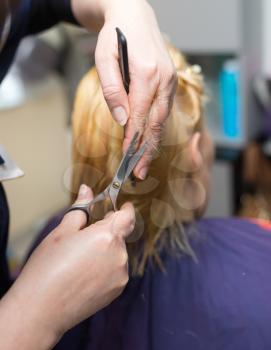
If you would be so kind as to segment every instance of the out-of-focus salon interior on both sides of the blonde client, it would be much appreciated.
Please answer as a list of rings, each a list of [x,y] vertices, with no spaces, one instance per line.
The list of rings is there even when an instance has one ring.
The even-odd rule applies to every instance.
[[[150,3],[162,31],[205,77],[205,118],[216,146],[206,215],[270,219],[270,0]],[[4,183],[13,267],[69,201],[71,108],[95,45],[95,34],[68,25],[26,38],[0,88],[1,144],[26,174]]]

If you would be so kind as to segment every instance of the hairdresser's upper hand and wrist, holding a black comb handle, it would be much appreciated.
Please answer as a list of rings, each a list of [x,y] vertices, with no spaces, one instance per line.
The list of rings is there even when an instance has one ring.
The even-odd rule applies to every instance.
[[[72,0],[72,5],[82,25],[101,29],[96,67],[109,109],[120,124],[126,124],[124,150],[136,129],[151,140],[151,146],[134,171],[144,179],[169,115],[176,85],[175,68],[153,10],[145,0]],[[129,96],[118,66],[116,27],[123,31],[128,42]]]

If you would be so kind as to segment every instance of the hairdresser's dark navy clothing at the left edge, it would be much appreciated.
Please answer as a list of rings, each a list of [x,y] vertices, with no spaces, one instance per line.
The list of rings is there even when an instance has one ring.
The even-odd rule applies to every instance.
[[[76,23],[71,11],[70,0],[18,1],[16,10],[11,14],[11,28],[7,40],[0,52],[0,83],[12,64],[22,38],[47,29],[60,21]],[[0,27],[0,34],[2,29]],[[0,297],[10,285],[6,261],[8,224],[8,205],[0,183]]]

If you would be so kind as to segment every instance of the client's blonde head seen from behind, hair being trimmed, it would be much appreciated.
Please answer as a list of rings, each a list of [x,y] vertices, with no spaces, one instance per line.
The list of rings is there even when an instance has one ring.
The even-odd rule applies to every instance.
[[[137,224],[128,243],[133,272],[142,274],[148,259],[160,266],[159,252],[171,247],[187,253],[183,224],[202,215],[208,199],[213,147],[203,123],[203,82],[173,47],[169,52],[178,74],[171,114],[161,147],[144,181],[128,180],[118,205],[134,204]],[[103,98],[99,78],[92,68],[79,85],[73,113],[73,178],[75,195],[81,183],[94,194],[110,183],[122,157],[123,128],[112,118]],[[97,207],[94,217],[109,208]]]

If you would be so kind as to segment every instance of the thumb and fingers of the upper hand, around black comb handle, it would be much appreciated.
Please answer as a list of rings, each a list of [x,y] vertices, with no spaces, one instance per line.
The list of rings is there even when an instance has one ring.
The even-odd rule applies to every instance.
[[[143,38],[142,43],[136,42],[134,35],[127,35],[131,80],[127,96],[118,63],[117,40],[115,37],[112,40],[115,31],[112,29],[110,24],[105,24],[99,34],[95,51],[96,67],[114,119],[126,125],[123,150],[127,150],[137,131],[143,136],[142,140],[150,141],[150,146],[134,171],[135,176],[143,180],[171,109],[176,70],[159,31],[152,30],[151,37]],[[146,52],[146,55],[142,55],[142,52]]]

